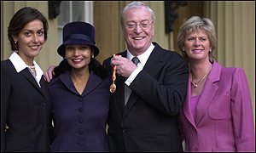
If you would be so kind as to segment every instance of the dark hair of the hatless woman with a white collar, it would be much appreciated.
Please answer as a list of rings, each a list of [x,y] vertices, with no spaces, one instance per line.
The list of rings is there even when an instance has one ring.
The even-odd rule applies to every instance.
[[[47,40],[48,21],[41,14],[38,9],[31,7],[20,8],[12,19],[9,21],[8,38],[12,50],[18,50],[18,44],[15,44],[14,36],[18,36],[20,31],[26,26],[27,23],[33,20],[41,20],[44,25],[44,40]]]

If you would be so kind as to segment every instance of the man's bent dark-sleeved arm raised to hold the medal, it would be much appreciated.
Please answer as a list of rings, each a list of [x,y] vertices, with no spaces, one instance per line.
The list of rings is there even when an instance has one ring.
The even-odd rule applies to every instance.
[[[155,60],[145,65],[130,88],[154,109],[176,116],[187,94],[188,65],[177,54],[163,54]]]

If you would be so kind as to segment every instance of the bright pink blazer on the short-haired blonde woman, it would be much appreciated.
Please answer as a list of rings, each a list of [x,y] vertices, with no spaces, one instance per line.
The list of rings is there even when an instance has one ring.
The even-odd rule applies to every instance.
[[[191,83],[180,127],[185,151],[255,151],[252,101],[245,72],[214,61],[196,106],[190,110]]]

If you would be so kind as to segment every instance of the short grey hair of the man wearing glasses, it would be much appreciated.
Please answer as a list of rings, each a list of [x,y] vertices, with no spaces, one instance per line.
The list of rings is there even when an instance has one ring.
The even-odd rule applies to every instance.
[[[128,3],[125,8],[123,9],[122,14],[120,15],[120,23],[121,26],[124,26],[124,14],[127,10],[131,9],[131,8],[142,8],[145,7],[148,9],[149,13],[151,14],[151,20],[153,20],[153,22],[155,23],[155,14],[154,11],[148,7],[148,5],[146,5],[145,3],[142,2],[138,2],[138,1],[134,1],[132,3]]]

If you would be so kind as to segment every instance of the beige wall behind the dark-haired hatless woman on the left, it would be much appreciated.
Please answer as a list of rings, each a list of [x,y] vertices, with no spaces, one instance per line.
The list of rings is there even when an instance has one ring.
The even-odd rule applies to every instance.
[[[25,6],[37,8],[49,22],[48,40],[44,43],[43,49],[36,58],[36,61],[41,68],[46,71],[49,65],[58,64],[58,54],[56,48],[58,44],[57,22],[56,20],[49,20],[48,18],[48,2],[47,1],[1,1],[1,59],[8,59],[11,51],[9,40],[7,37],[7,28],[9,20],[15,12]]]

